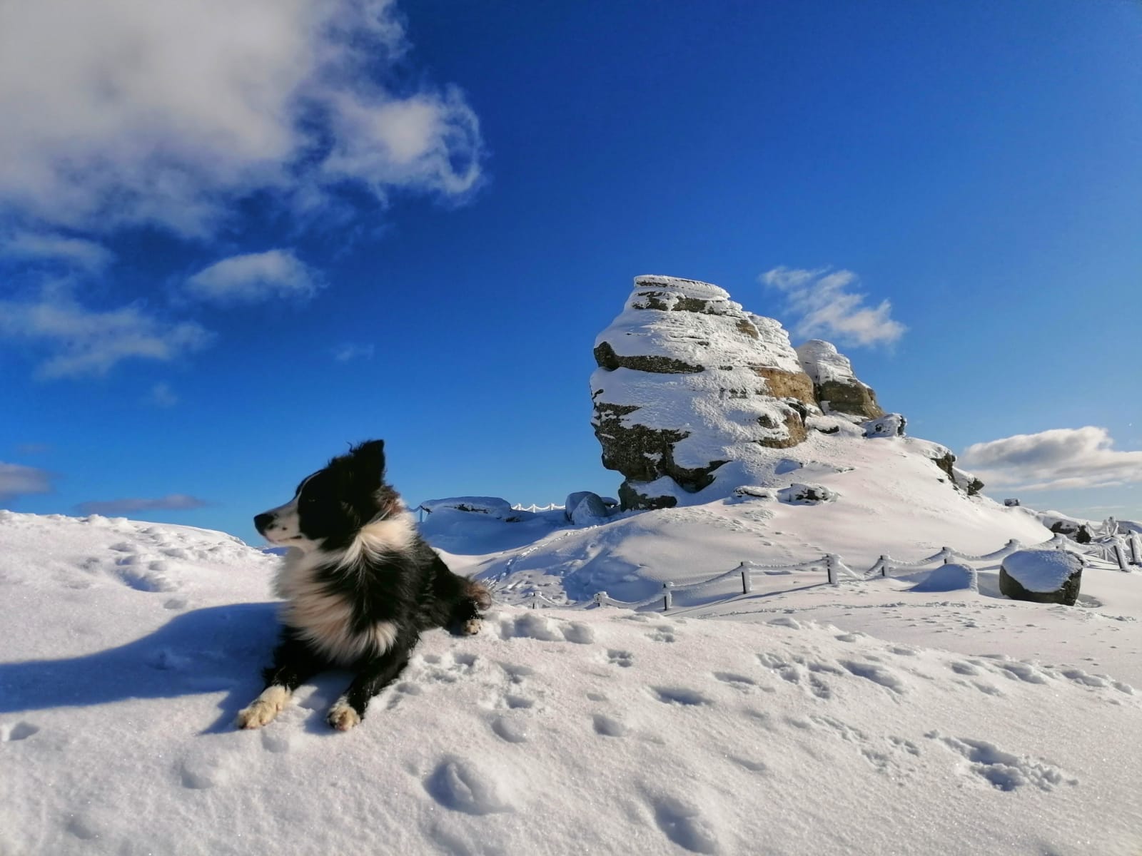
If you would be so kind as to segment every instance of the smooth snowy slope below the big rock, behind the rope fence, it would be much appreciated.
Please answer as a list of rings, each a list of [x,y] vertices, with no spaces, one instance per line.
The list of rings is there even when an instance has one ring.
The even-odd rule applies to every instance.
[[[911,559],[943,546],[984,554],[1013,538],[1030,544],[1051,536],[1027,509],[955,488],[932,462],[942,446],[912,437],[866,439],[851,422],[818,419],[837,433],[810,431],[794,449],[731,461],[722,470],[734,470],[740,483],[771,485],[774,494],[793,483],[821,485],[836,496],[829,502],[722,499],[715,485],[687,494],[700,504],[628,514],[603,526],[568,528],[558,515],[525,530],[464,524],[459,541],[474,546],[475,555],[453,549],[457,518],[433,517],[426,530],[434,546],[469,572],[504,586],[518,574],[542,575],[542,590],[556,600],[584,600],[601,590],[638,600],[665,581],[690,583],[743,560],[780,565],[835,552],[867,568],[882,554]],[[482,546],[474,532],[484,533]]]

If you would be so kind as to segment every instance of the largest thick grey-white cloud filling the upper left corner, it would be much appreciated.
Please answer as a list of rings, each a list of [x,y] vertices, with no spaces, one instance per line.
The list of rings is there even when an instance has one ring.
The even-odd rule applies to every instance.
[[[204,237],[258,192],[463,197],[477,118],[408,48],[395,0],[0,3],[0,211]]]

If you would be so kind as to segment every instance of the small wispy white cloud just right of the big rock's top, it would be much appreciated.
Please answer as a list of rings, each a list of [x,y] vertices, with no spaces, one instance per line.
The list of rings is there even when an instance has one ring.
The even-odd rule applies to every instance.
[[[843,345],[890,345],[907,328],[893,321],[892,304],[864,306],[867,294],[851,291],[852,270],[815,270],[775,267],[758,277],[786,296],[789,312],[799,316],[793,332],[806,339],[822,338]]]

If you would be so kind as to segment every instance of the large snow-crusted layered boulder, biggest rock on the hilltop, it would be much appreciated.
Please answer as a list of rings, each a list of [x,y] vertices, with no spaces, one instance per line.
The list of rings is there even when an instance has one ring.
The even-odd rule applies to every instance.
[[[796,445],[818,412],[788,333],[709,283],[637,277],[595,361],[592,421],[603,466],[626,477],[624,508],[677,502],[649,483],[700,491],[750,449]]]

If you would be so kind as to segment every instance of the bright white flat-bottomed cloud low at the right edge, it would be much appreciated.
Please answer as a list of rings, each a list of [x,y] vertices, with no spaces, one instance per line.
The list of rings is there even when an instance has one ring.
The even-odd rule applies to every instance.
[[[958,466],[988,485],[1046,491],[1142,482],[1142,451],[1120,452],[1105,428],[1055,428],[975,443]]]

